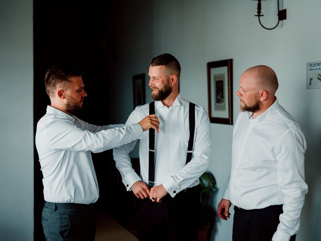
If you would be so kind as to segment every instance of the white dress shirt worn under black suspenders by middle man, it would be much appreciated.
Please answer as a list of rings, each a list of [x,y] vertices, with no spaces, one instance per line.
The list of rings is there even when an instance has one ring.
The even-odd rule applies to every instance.
[[[126,125],[149,113],[149,104],[137,106],[129,115]],[[161,185],[174,197],[181,190],[199,184],[199,177],[208,169],[211,154],[211,126],[207,112],[195,107],[195,137],[191,162],[186,165],[189,141],[189,101],[179,94],[172,106],[155,101],[155,114],[159,119],[159,133],[155,133],[155,184]],[[139,140],[140,177],[130,164],[129,152],[136,141],[113,151],[116,167],[127,190],[142,180],[148,183],[148,132]]]

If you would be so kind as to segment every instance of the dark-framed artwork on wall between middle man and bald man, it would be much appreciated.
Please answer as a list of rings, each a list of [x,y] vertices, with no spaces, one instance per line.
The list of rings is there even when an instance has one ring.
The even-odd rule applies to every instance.
[[[233,125],[233,59],[207,63],[211,123]]]

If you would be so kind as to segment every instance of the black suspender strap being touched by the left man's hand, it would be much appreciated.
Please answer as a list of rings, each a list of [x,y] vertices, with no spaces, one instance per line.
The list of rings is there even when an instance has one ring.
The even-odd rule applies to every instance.
[[[149,114],[155,113],[155,101],[149,103]],[[155,130],[150,128],[148,147],[148,186],[151,188],[155,182]]]

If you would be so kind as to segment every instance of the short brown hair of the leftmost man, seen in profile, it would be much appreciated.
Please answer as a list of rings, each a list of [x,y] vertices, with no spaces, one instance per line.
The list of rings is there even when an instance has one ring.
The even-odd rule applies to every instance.
[[[46,92],[49,96],[53,95],[57,85],[70,82],[71,77],[82,76],[83,73],[75,66],[55,65],[50,67],[45,76]]]

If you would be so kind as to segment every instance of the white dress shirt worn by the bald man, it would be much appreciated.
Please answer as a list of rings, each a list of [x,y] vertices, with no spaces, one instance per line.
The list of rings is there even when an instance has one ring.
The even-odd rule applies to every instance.
[[[307,185],[304,135],[277,99],[261,115],[239,113],[233,131],[232,168],[223,198],[244,209],[283,204],[273,241],[299,228]]]

